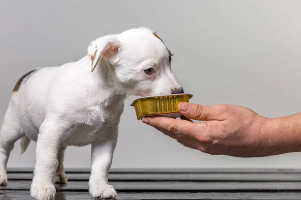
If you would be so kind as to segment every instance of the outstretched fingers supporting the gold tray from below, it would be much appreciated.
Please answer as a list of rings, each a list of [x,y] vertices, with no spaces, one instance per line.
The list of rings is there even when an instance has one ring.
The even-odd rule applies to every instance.
[[[170,132],[195,138],[198,136],[200,128],[202,128],[197,123],[193,123],[188,120],[179,120],[160,116],[144,117],[142,122],[165,133]]]

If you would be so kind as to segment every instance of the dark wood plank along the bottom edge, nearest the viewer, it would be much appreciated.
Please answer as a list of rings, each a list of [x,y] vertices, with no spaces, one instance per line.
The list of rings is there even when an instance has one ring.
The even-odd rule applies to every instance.
[[[119,192],[117,199],[300,199],[298,192]],[[29,191],[0,191],[2,200],[32,200]],[[56,200],[91,200],[88,192],[57,191]]]

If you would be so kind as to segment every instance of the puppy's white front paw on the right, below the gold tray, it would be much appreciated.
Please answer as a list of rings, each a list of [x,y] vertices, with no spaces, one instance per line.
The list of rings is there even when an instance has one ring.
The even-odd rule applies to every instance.
[[[89,192],[93,198],[115,198],[117,192],[109,184],[90,184]]]

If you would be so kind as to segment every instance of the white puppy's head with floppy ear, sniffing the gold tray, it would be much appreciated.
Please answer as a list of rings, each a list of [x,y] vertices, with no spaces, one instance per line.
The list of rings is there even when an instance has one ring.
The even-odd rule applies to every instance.
[[[120,92],[138,96],[184,93],[171,70],[171,51],[147,28],[100,37],[90,43],[88,57],[91,71],[107,73]]]

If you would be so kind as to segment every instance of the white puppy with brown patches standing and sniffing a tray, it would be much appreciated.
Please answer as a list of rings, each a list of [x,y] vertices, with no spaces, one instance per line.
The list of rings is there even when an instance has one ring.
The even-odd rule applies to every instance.
[[[22,152],[37,141],[31,196],[54,199],[55,182],[67,182],[67,146],[91,144],[89,192],[113,198],[108,171],[118,123],[128,95],[184,93],[171,71],[171,51],[148,28],[99,37],[88,55],[62,66],[32,70],[14,87],[0,131],[0,184],[7,183],[7,161],[21,138]]]

